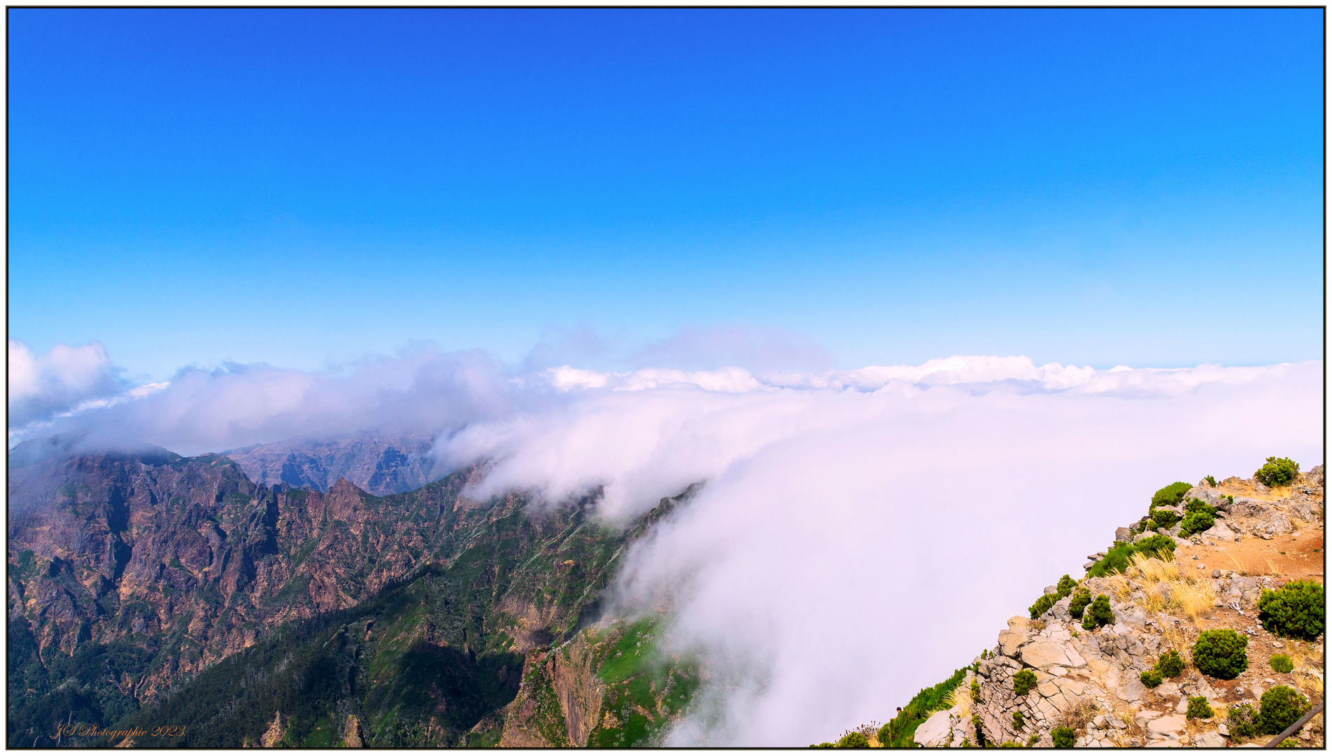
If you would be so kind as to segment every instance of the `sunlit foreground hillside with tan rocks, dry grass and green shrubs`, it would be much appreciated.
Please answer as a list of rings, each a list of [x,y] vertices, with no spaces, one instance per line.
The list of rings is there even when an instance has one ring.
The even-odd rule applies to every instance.
[[[1281,488],[1237,477],[1184,487],[1177,503],[1154,505],[1155,519],[1119,528],[1110,549],[1088,556],[1083,580],[1066,576],[1028,613],[1010,619],[996,645],[954,679],[951,693],[932,693],[934,711],[907,707],[882,729],[864,728],[866,740],[1050,747],[1062,736],[1068,740],[1060,745],[1219,748],[1272,737],[1275,728],[1247,727],[1269,707],[1268,691],[1297,691],[1308,705],[1321,700],[1323,607],[1311,609],[1317,636],[1303,640],[1273,635],[1272,617],[1259,609],[1264,592],[1323,584],[1321,465]],[[1188,537],[1181,537],[1188,520],[1154,531],[1195,508],[1215,511],[1211,527]],[[1134,544],[1142,551],[1128,553]],[[1319,603],[1321,595],[1317,588]],[[1108,599],[1100,621],[1087,620],[1092,596]],[[1239,673],[1199,668],[1205,661],[1196,657],[1199,639],[1219,629],[1247,639],[1239,641],[1237,659],[1247,663]],[[1277,655],[1289,667],[1272,659]],[[1147,680],[1162,669],[1167,673]],[[1319,715],[1293,743],[1323,747],[1324,735]]]

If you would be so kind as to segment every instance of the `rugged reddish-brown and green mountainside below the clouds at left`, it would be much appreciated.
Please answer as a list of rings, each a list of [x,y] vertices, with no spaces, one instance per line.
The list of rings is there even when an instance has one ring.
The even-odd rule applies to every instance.
[[[625,660],[646,631],[589,627],[625,545],[674,501],[621,529],[590,501],[470,500],[469,472],[377,497],[257,485],[220,455],[16,452],[9,745],[168,721],[209,724],[131,743],[457,745],[530,725],[549,737],[529,740],[630,744],[691,691],[687,664],[653,657],[674,697],[653,683],[635,720],[615,696],[641,677]]]

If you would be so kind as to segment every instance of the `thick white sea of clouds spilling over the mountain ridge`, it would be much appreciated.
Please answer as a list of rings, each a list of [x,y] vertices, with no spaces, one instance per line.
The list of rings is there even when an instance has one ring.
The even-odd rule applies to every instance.
[[[100,345],[59,349],[9,344],[11,447],[79,431],[198,453],[429,431],[441,472],[489,463],[477,496],[554,504],[599,487],[613,521],[706,481],[614,587],[625,607],[669,601],[670,643],[709,661],[674,744],[805,745],[883,721],[1079,575],[1162,485],[1249,476],[1272,455],[1323,463],[1320,361],[605,372],[421,348],[131,387]]]

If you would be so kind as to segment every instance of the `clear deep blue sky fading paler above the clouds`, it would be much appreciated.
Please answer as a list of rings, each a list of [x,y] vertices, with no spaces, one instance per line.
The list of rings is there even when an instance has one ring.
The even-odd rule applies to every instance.
[[[1321,357],[1320,9],[8,16],[37,349]]]

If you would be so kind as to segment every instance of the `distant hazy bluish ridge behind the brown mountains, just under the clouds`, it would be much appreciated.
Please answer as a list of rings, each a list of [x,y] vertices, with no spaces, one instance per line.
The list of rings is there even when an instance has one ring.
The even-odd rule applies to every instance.
[[[442,477],[434,473],[429,435],[288,439],[222,452],[260,485],[285,483],[326,492],[348,480],[376,496],[405,493]]]

